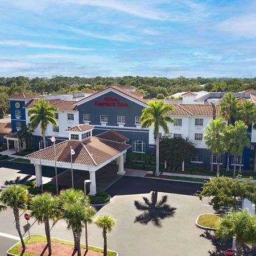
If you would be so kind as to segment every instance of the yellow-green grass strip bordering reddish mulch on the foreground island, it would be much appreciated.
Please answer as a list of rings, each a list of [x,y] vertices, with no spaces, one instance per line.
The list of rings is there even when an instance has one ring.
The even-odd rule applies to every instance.
[[[69,241],[64,241],[64,240],[60,240],[60,239],[56,239],[56,238],[51,238],[52,242],[57,242],[57,243],[61,243],[62,245],[74,245],[73,242],[69,242]],[[39,236],[39,235],[31,235],[30,238],[26,237],[24,238],[24,242],[26,244],[28,243],[33,243],[33,242],[46,242],[46,237],[45,236]],[[34,254],[30,254],[30,253],[26,253],[26,250],[24,251],[24,253],[19,253],[19,247],[21,246],[21,243],[19,242],[17,245],[15,245],[14,247],[11,247],[11,249],[9,249],[7,251],[7,253],[11,253],[14,255],[23,255],[23,256],[36,256]],[[81,247],[85,248],[84,245],[82,245]],[[103,250],[97,247],[92,247],[92,246],[88,246],[90,250],[93,251],[99,251],[101,253],[103,253]],[[108,251],[108,256],[116,256],[117,254],[114,251]]]

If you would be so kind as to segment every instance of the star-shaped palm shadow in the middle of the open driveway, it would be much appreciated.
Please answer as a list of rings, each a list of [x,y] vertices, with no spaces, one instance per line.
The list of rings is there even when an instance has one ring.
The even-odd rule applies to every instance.
[[[143,213],[135,217],[134,222],[147,225],[152,222],[155,226],[161,227],[161,221],[164,218],[174,216],[175,207],[171,207],[167,204],[167,195],[164,195],[160,201],[158,199],[158,192],[154,191],[151,193],[151,201],[146,197],[142,197],[144,202],[134,201],[134,205],[138,210],[143,210]]]

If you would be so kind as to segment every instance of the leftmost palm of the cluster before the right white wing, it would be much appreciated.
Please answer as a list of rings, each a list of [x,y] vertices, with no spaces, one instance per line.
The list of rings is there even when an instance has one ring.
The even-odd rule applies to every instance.
[[[220,158],[224,152],[224,130],[226,122],[221,118],[211,120],[208,127],[205,128],[204,140],[207,147],[212,151],[212,162],[210,170],[213,171],[213,154],[217,154],[217,174],[220,172]]]

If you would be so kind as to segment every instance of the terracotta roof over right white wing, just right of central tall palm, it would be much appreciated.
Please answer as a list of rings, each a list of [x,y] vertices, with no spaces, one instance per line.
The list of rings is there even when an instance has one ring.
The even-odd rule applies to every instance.
[[[219,106],[216,105],[216,115],[219,113]],[[170,115],[213,115],[212,105],[199,104],[177,104]]]

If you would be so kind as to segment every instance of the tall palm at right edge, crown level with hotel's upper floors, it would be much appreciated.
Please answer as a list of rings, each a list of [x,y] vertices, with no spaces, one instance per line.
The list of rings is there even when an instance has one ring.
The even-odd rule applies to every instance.
[[[253,102],[245,101],[240,109],[240,119],[247,125],[252,125],[253,123],[255,123],[256,121],[256,108],[255,105],[253,104]],[[252,127],[252,129],[255,129],[255,125]],[[241,155],[242,158],[242,155]],[[255,147],[255,157],[254,157],[254,168],[253,168],[253,172],[256,172],[256,147]],[[240,161],[240,171],[241,171],[241,164],[242,161]]]

